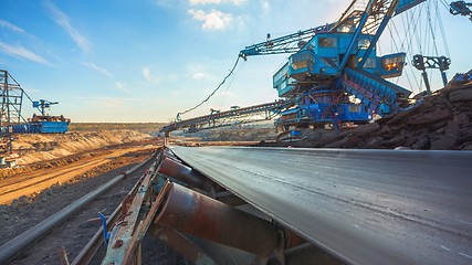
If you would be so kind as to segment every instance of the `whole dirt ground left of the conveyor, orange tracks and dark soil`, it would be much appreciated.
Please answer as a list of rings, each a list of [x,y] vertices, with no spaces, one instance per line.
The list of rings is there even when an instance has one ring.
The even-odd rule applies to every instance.
[[[0,170],[0,245],[143,162],[161,145],[160,139],[136,131],[21,136],[14,147],[22,155],[22,166]],[[61,246],[72,262],[101,225],[90,220],[98,212],[109,215],[149,166],[128,176],[11,264],[60,264]],[[160,241],[151,236],[145,241],[145,261],[157,257],[160,264],[187,263]]]

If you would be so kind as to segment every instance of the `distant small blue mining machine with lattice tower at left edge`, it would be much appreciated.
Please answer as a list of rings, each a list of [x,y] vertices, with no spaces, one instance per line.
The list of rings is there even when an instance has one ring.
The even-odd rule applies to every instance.
[[[0,151],[12,152],[12,135],[18,134],[64,134],[69,130],[70,119],[64,116],[50,116],[45,109],[57,102],[32,100],[20,84],[4,70],[0,70],[1,112],[0,112]],[[25,119],[22,114],[23,96],[31,100],[40,112]]]

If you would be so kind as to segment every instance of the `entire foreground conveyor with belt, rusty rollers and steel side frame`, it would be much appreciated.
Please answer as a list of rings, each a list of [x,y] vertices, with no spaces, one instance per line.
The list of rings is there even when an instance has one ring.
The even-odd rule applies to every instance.
[[[171,147],[125,200],[102,264],[139,261],[148,232],[195,264],[471,264],[471,159]]]

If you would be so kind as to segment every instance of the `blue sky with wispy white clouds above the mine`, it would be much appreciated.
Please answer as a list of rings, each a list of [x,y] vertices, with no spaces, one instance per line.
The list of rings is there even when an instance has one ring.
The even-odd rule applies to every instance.
[[[444,32],[438,31],[436,41],[442,43],[444,54],[451,57],[449,77],[468,72],[472,68],[472,22],[449,14],[443,1],[429,1],[438,3],[441,14]],[[1,0],[0,70],[9,71],[31,98],[59,102],[49,113],[64,115],[72,121],[170,121],[220,84],[244,46],[263,42],[268,33],[276,38],[334,22],[349,3],[349,0]],[[407,15],[412,18],[415,13]],[[400,26],[401,20],[398,21]],[[402,21],[408,25],[405,21],[408,20]],[[429,31],[426,22],[418,23],[421,32]],[[431,31],[440,28],[434,22]],[[388,46],[396,36],[385,35]],[[431,46],[431,41],[423,42]],[[241,60],[219,92],[182,118],[209,114],[210,108],[225,110],[234,105],[244,107],[275,100],[272,75],[287,56]],[[419,80],[419,72],[409,72]],[[409,87],[421,85],[418,81],[397,82],[416,93],[423,89]],[[433,88],[441,86],[439,80],[432,83]],[[32,112],[31,104],[25,102],[23,116],[31,116]]]

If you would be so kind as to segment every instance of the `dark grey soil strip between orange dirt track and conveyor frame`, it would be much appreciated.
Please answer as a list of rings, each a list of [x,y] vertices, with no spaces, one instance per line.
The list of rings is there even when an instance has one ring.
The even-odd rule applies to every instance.
[[[0,230],[0,244],[32,227],[120,172],[144,161],[151,153],[151,149],[125,153],[113,161],[114,170],[98,173],[93,178],[82,178],[73,183],[54,186],[34,198],[18,200],[12,205],[2,205],[0,208],[0,216],[6,229]],[[109,215],[149,166],[150,162],[128,176],[98,200],[95,200],[72,219],[59,225],[50,235],[21,254],[11,264],[60,264],[57,253],[61,246],[65,247],[67,257],[72,262],[101,225],[90,220],[96,219],[98,212]],[[151,263],[151,258],[158,257],[161,261],[159,264],[186,264],[180,255],[153,237],[146,239],[144,252],[144,256],[146,256],[146,253],[149,256],[148,263]],[[103,254],[104,250],[101,253]],[[156,253],[158,255],[155,255]],[[99,261],[101,258],[97,257],[93,264],[99,264]]]

